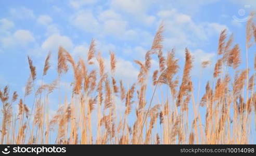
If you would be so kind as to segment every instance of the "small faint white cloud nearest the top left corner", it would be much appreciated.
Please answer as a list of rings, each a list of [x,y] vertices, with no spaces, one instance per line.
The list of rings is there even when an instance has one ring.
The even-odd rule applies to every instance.
[[[35,15],[33,10],[20,7],[20,8],[11,8],[10,15],[17,18],[17,19],[34,19]]]

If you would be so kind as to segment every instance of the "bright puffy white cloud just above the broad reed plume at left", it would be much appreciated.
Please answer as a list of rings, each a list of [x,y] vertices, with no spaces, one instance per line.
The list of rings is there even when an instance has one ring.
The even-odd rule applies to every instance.
[[[53,34],[49,36],[42,44],[42,48],[47,51],[57,51],[59,46],[71,50],[73,43],[68,36]]]

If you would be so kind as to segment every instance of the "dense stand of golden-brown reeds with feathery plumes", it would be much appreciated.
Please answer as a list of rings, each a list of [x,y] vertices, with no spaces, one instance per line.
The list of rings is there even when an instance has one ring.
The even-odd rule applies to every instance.
[[[110,53],[111,72],[97,53],[92,40],[86,58],[75,61],[63,47],[58,50],[58,76],[52,83],[35,87],[35,80],[47,76],[52,65],[50,53],[43,73],[39,75],[28,57],[30,76],[24,95],[1,88],[1,144],[250,144],[255,131],[256,93],[254,77],[256,25],[247,22],[246,45],[233,43],[233,35],[223,30],[219,37],[217,60],[212,79],[205,84],[203,96],[196,100],[191,77],[193,57],[185,49],[181,69],[175,50],[163,51],[161,24],[144,61],[137,81],[123,85],[115,76],[116,56]],[[235,34],[234,34],[235,36]],[[246,51],[241,51],[245,46]],[[165,55],[165,54],[166,55]],[[246,60],[241,59],[241,54]],[[151,58],[159,60],[159,68],[151,69]],[[167,57],[165,57],[167,56]],[[253,60],[252,60],[253,59]],[[254,67],[248,62],[254,61]],[[212,62],[201,62],[207,68]],[[240,70],[244,64],[246,67]],[[97,68],[92,68],[97,66]],[[73,71],[70,98],[59,101],[54,115],[49,113],[49,95],[58,90],[61,78]],[[154,72],[150,72],[150,70]],[[125,71],[124,71],[125,72]],[[235,73],[234,76],[229,72]],[[180,75],[178,73],[181,73]],[[197,87],[199,89],[199,87]],[[168,90],[168,91],[163,91]],[[58,92],[58,91],[56,91]],[[201,91],[202,92],[202,91]],[[28,97],[33,103],[26,103]],[[23,97],[23,98],[19,98]],[[160,100],[156,100],[159,99]],[[70,99],[70,100],[67,100]],[[121,102],[117,102],[117,99]],[[18,107],[16,107],[16,106]],[[124,111],[120,111],[122,105]],[[31,106],[30,108],[28,106]],[[14,110],[17,108],[18,110]],[[205,110],[205,111],[200,111]],[[94,115],[93,115],[94,114]],[[96,118],[95,118],[96,117]]]

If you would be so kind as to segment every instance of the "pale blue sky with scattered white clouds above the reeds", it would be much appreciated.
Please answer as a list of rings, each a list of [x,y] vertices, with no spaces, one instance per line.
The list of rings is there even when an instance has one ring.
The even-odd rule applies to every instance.
[[[0,88],[9,85],[11,90],[23,95],[29,76],[28,55],[37,73],[42,73],[44,60],[48,52],[52,52],[53,66],[44,80],[51,82],[57,76],[58,47],[66,48],[75,59],[86,58],[92,38],[106,60],[109,51],[116,53],[116,75],[131,85],[139,72],[133,60],[144,60],[161,22],[164,51],[175,48],[176,57],[183,64],[184,49],[188,47],[194,56],[192,75],[199,81],[200,63],[216,61],[217,41],[222,30],[234,33],[235,43],[239,43],[245,53],[246,20],[256,9],[256,1],[0,0],[0,6]],[[249,65],[252,64],[250,57]],[[152,66],[158,66],[156,60]],[[206,79],[212,70],[203,71]],[[42,82],[40,78],[36,81],[38,85]],[[70,90],[70,79],[71,76],[66,76],[61,82],[66,92]]]

